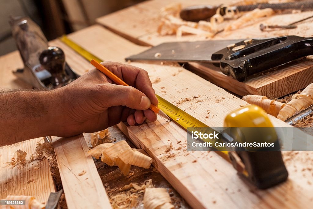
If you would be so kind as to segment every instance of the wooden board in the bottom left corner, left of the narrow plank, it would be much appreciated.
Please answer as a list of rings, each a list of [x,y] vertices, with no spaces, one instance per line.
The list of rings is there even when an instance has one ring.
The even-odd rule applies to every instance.
[[[0,199],[5,199],[8,195],[27,195],[46,203],[50,192],[56,191],[48,159],[34,160],[22,167],[11,168],[6,164],[11,162],[18,149],[25,151],[26,160],[29,160],[30,155],[36,152],[36,144],[40,140],[43,141],[43,138],[0,147]]]

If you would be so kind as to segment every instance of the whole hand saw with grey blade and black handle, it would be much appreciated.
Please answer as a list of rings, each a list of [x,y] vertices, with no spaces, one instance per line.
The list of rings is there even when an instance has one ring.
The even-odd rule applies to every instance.
[[[168,42],[126,60],[203,62],[219,65],[238,81],[298,58],[313,55],[313,38],[281,36],[270,39]]]

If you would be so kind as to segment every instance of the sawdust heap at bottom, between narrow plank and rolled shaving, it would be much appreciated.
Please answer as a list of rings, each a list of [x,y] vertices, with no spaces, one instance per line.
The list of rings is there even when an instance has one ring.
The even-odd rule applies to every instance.
[[[122,188],[115,188],[110,190],[109,187],[105,188],[108,193],[110,203],[113,209],[128,209],[136,207],[143,201],[143,195],[146,188],[153,188],[152,179],[145,180],[140,185],[130,183]]]

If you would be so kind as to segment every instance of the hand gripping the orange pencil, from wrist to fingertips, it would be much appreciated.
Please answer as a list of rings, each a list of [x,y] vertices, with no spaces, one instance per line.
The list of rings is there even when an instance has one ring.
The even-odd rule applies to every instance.
[[[102,62],[130,86],[112,84],[97,69],[92,69],[76,81],[56,89],[59,91],[59,136],[92,133],[113,126],[121,121],[129,125],[141,124],[148,119],[153,122],[156,114],[148,109],[158,100],[148,73],[138,67],[117,62]]]

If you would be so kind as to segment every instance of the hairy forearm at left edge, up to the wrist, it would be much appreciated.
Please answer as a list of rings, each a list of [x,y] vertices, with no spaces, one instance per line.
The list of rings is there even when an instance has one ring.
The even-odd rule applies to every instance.
[[[58,92],[0,92],[0,146],[51,135],[58,128]]]

